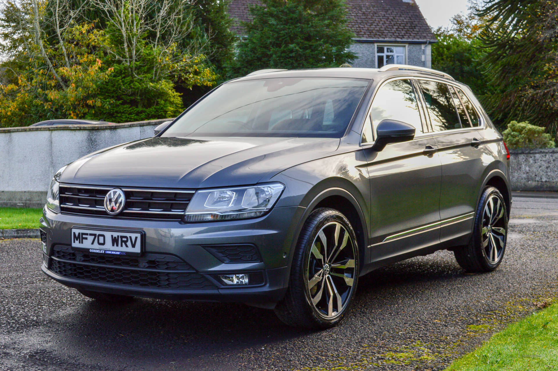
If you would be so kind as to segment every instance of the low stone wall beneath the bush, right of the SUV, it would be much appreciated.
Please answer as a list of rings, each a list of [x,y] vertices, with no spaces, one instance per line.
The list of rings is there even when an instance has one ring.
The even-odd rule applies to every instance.
[[[511,150],[514,191],[558,191],[558,148]]]

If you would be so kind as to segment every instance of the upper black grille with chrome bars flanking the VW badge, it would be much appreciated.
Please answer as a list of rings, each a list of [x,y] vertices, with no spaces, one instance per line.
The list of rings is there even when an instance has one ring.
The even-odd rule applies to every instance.
[[[98,215],[110,218],[180,220],[194,191],[121,188],[126,196],[122,213],[110,216],[104,197],[112,187],[60,185],[62,213]]]

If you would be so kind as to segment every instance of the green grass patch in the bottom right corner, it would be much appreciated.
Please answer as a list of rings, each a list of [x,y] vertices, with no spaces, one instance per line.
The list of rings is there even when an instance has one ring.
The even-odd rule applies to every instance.
[[[446,369],[556,370],[558,369],[558,304],[509,325],[473,353]]]

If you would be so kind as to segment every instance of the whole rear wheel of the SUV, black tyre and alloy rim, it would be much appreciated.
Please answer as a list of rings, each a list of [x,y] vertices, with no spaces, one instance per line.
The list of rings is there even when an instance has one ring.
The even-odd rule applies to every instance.
[[[468,245],[454,250],[459,265],[468,272],[492,272],[506,252],[508,210],[500,191],[486,187],[480,196],[473,235]]]

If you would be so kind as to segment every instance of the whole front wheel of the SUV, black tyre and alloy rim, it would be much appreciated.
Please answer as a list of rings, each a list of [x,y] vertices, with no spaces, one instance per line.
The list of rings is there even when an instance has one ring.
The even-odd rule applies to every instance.
[[[289,286],[275,313],[285,324],[334,326],[357,290],[359,254],[353,227],[334,209],[313,211],[296,245]]]

